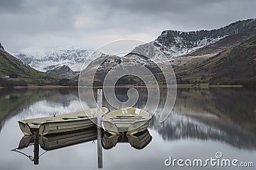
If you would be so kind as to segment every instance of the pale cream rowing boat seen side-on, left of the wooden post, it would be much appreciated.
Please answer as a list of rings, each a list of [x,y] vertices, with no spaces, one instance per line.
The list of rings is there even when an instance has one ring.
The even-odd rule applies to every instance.
[[[102,116],[108,108],[102,107]],[[97,124],[97,108],[76,111],[52,117],[30,118],[19,120],[20,130],[25,135],[33,135],[38,131],[40,136],[87,129]]]

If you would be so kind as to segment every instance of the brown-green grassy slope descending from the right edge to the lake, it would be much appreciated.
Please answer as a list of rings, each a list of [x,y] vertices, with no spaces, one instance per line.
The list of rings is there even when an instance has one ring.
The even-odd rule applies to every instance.
[[[191,83],[252,85],[256,80],[256,37],[214,57],[173,67],[177,78]]]

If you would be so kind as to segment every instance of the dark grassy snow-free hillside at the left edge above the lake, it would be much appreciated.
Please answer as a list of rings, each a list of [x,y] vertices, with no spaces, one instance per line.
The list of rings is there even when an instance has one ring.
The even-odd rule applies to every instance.
[[[0,49],[0,78],[6,81],[26,81],[28,84],[38,85],[38,83],[52,83],[60,80],[59,76],[42,73],[35,69],[24,65],[20,60],[16,59],[10,53]]]

